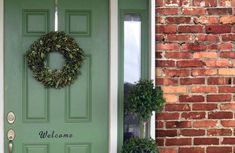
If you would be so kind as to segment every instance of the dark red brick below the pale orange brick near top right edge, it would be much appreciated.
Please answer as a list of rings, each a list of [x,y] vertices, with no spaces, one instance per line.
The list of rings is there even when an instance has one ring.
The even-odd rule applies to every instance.
[[[206,26],[207,33],[230,33],[232,30],[231,25],[208,25]]]

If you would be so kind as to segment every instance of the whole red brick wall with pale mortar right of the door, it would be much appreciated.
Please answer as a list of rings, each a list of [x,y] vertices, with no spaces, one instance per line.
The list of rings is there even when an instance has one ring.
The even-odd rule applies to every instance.
[[[235,152],[235,0],[156,0],[161,153]]]

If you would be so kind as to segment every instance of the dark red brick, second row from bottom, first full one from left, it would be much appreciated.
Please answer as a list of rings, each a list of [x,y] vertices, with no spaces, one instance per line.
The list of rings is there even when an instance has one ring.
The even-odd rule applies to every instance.
[[[184,146],[184,145],[191,145],[191,144],[192,144],[191,138],[166,139],[166,146]]]

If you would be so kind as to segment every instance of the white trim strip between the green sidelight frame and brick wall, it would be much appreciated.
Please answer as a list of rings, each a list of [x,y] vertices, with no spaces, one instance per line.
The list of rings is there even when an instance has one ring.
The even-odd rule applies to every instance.
[[[155,0],[150,0],[151,79],[155,83]],[[151,117],[150,136],[155,139],[155,112]]]

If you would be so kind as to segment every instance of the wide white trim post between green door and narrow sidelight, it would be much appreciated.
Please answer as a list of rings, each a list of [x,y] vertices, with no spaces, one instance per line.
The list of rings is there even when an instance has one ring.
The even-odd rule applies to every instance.
[[[117,153],[118,144],[118,0],[110,0],[109,44],[109,153]]]

